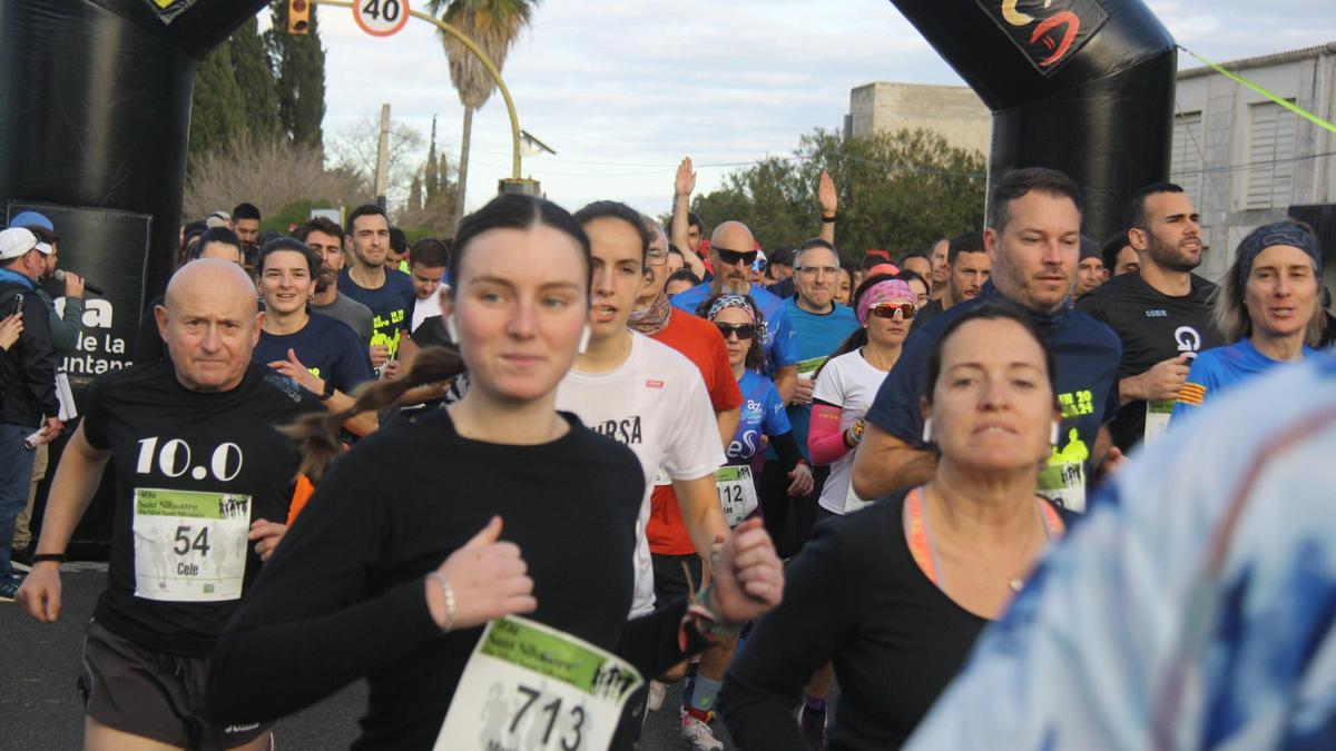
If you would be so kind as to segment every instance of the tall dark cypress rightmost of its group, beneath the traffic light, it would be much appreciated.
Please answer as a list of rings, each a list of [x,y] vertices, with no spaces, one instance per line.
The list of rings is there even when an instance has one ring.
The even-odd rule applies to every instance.
[[[325,120],[325,49],[321,48],[318,8],[311,8],[310,31],[287,33],[287,0],[270,5],[270,28],[266,33],[270,64],[278,72],[275,91],[278,118],[293,143],[325,146],[321,123]]]

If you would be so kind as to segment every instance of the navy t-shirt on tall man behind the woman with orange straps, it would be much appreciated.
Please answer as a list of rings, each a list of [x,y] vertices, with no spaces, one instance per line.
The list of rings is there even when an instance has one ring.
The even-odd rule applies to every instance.
[[[963,313],[986,301],[1006,299],[987,282],[979,297],[953,305],[904,341],[895,367],[876,392],[867,420],[912,446],[922,445],[923,414],[919,400],[927,392],[927,359],[942,331]],[[1090,454],[1100,426],[1118,414],[1118,363],[1122,343],[1113,329],[1079,310],[1065,307],[1054,315],[1033,314],[1057,367],[1062,426],[1049,466],[1041,470],[1039,492],[1069,510],[1085,510],[1077,492],[1090,476]],[[1057,485],[1066,481],[1070,492]]]

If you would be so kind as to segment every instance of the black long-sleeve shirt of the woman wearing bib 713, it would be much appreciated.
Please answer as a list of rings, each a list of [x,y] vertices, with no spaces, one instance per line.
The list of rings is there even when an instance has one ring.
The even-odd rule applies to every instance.
[[[424,579],[493,514],[534,581],[538,609],[526,617],[617,652],[647,678],[684,659],[684,601],[627,621],[640,465],[565,418],[570,432],[557,441],[508,446],[460,437],[437,410],[341,457],[214,655],[215,719],[279,718],[366,676],[354,747],[430,748],[482,629],[442,636]]]

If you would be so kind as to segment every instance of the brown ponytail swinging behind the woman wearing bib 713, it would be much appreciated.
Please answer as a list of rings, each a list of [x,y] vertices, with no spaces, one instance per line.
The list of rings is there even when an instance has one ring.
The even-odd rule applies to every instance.
[[[311,480],[319,480],[329,465],[343,452],[339,429],[343,422],[363,412],[379,412],[398,402],[405,393],[417,386],[449,381],[464,373],[460,353],[446,347],[425,347],[413,359],[407,376],[394,381],[373,381],[358,386],[353,406],[343,412],[313,413],[297,422],[281,428],[279,432],[297,441],[302,453],[301,473]]]

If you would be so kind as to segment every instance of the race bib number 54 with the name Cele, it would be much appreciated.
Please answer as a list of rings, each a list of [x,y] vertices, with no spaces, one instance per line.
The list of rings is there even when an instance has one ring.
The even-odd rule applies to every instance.
[[[251,497],[135,488],[135,596],[215,603],[242,596]]]

